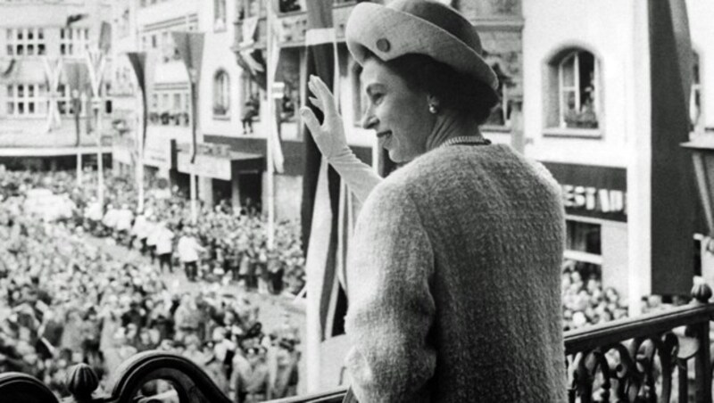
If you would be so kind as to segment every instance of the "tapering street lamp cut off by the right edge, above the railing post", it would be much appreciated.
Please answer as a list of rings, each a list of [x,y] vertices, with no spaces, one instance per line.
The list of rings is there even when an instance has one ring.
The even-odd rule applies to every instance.
[[[714,136],[699,136],[681,145],[692,152],[697,189],[709,230],[707,251],[714,253]]]

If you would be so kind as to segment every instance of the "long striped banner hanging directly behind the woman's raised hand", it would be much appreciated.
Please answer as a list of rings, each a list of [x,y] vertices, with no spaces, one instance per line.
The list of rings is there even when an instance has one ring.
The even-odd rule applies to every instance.
[[[339,91],[339,64],[336,33],[332,20],[332,0],[315,0],[307,4],[308,30],[305,35],[307,46],[304,62],[306,75],[317,76],[336,94]],[[309,94],[307,80],[304,80],[304,95]],[[318,119],[322,113],[312,105]],[[307,131],[307,128],[304,127]],[[306,251],[305,272],[307,275],[307,342],[310,357],[307,368],[308,391],[324,387],[335,387],[339,376],[330,374],[341,365],[346,353],[344,317],[347,309],[345,284],[340,284],[338,273],[345,270],[351,196],[340,177],[320,150],[312,136],[303,136],[305,165],[303,171],[303,201],[301,206],[303,245]],[[322,352],[325,351],[325,359]],[[337,366],[334,362],[338,361]],[[337,373],[339,371],[336,371]],[[334,379],[330,379],[334,378]]]

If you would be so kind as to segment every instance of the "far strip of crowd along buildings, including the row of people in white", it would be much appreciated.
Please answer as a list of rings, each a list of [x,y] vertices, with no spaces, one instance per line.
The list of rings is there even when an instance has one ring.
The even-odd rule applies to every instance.
[[[88,172],[84,177],[87,185],[80,189],[72,172],[38,175],[8,171],[2,192],[9,196],[19,189],[45,188],[64,195],[71,208],[54,204],[55,209],[69,211],[63,218],[84,226],[90,234],[109,236],[130,249],[137,248],[152,260],[161,259],[168,270],[188,267],[191,280],[228,277],[262,293],[296,294],[302,290],[304,257],[298,223],[276,223],[274,245],[269,248],[267,221],[250,207],[234,210],[226,201],[214,208],[201,205],[200,219],[193,224],[189,202],[178,188],[169,192],[155,182],[147,185],[151,190],[145,195],[145,208],[137,211],[133,182],[105,177],[105,205],[100,206],[95,186],[88,185],[95,175]]]

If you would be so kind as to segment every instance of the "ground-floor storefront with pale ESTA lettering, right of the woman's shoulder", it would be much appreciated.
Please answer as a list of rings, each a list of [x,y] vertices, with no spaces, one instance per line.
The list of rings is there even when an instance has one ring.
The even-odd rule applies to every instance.
[[[566,264],[627,294],[627,170],[544,163],[561,186]]]

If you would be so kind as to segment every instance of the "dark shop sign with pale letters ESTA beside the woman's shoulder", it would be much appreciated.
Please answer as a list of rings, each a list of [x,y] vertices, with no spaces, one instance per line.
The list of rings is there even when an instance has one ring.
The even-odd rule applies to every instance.
[[[627,221],[627,169],[546,162],[562,190],[566,213]]]

